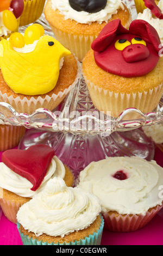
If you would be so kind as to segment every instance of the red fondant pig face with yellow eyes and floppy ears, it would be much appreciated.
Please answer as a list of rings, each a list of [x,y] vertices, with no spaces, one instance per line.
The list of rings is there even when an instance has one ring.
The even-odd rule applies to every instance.
[[[123,44],[126,47],[123,48]],[[136,77],[155,68],[160,58],[160,45],[158,33],[148,22],[134,20],[126,29],[121,20],[116,19],[102,29],[92,42],[92,49],[101,69],[119,76]]]

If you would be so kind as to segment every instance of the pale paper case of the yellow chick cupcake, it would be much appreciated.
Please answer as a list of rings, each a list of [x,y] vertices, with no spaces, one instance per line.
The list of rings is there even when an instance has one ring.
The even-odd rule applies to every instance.
[[[8,96],[7,93],[2,94],[0,91],[0,102],[6,102],[10,104],[18,113],[32,114],[38,108],[46,108],[52,111],[59,103],[66,97],[66,95],[72,90],[80,77],[80,63],[77,60],[78,71],[74,82],[64,90],[64,92],[59,92],[58,94],[53,94],[51,97],[46,95],[45,98],[38,96],[37,99],[31,97],[30,100],[24,96],[23,99],[20,96],[14,98],[12,95]]]

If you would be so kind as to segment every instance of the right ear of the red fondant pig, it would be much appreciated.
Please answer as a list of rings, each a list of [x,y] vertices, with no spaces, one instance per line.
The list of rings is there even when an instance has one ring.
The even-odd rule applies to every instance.
[[[129,32],[134,35],[139,35],[143,40],[153,44],[156,52],[160,51],[161,41],[155,28],[152,27],[147,21],[134,20],[130,23]]]

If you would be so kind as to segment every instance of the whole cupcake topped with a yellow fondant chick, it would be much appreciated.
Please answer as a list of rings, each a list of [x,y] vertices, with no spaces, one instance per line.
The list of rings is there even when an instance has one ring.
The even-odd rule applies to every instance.
[[[73,54],[43,33],[41,25],[32,25],[0,42],[0,101],[18,113],[52,111],[79,79]]]

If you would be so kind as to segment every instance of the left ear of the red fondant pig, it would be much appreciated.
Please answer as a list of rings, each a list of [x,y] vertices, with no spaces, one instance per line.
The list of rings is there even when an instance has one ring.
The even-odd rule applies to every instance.
[[[93,51],[102,52],[115,39],[117,34],[127,34],[129,31],[121,24],[120,19],[110,21],[99,33],[98,37],[92,42]]]

